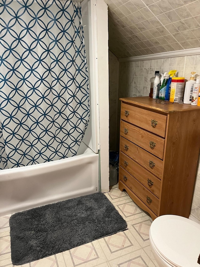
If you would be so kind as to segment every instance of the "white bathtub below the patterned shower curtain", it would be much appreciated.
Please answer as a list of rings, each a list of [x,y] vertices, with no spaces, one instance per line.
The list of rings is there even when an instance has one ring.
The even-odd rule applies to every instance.
[[[77,156],[0,171],[0,216],[99,191],[98,154],[83,142]]]

